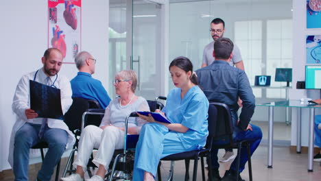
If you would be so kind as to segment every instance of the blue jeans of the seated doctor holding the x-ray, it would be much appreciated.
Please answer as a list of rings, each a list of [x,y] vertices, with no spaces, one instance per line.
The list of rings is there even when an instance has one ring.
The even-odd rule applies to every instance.
[[[68,134],[65,130],[48,128],[39,138],[38,133],[41,125],[25,123],[14,137],[14,180],[28,180],[29,149],[45,141],[48,143],[48,152],[43,160],[43,165],[38,172],[39,180],[50,180],[54,167],[57,165],[64,149],[66,149]]]

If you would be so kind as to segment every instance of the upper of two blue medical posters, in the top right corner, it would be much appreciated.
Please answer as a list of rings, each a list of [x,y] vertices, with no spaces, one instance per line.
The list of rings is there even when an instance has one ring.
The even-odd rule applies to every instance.
[[[321,28],[321,0],[307,0],[307,29]]]

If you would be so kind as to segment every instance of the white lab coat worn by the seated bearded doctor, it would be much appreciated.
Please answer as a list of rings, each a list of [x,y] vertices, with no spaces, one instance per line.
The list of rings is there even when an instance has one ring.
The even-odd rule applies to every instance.
[[[16,132],[25,123],[41,124],[43,120],[43,118],[27,119],[27,117],[25,116],[25,110],[27,108],[30,108],[29,80],[34,80],[36,82],[45,84],[45,79],[47,77],[47,75],[45,75],[45,73],[43,72],[43,68],[38,69],[38,73],[36,75],[36,78],[34,79],[35,74],[36,74],[36,71],[23,75],[18,85],[16,86],[16,92],[14,93],[12,110],[14,111],[14,113],[16,113],[16,123],[14,123],[12,132],[11,132],[9,156],[8,156],[8,161],[11,167],[13,167],[14,136],[16,135]],[[64,77],[60,74],[58,74],[58,77],[54,75],[54,76],[51,76],[50,78],[51,78],[51,82],[54,83],[53,85],[56,86],[56,88],[60,88],[61,107],[62,107],[62,112],[64,114],[65,112],[67,112],[67,110],[69,109],[73,101],[71,99],[72,92],[71,92],[70,82],[67,79],[67,77]],[[75,137],[73,133],[69,131],[69,128],[64,123],[64,121],[60,119],[48,119],[47,123],[49,128],[60,128],[62,130],[66,130],[67,133],[69,134],[68,143],[66,147],[67,149],[69,149],[70,147],[73,146],[73,144],[75,143]]]

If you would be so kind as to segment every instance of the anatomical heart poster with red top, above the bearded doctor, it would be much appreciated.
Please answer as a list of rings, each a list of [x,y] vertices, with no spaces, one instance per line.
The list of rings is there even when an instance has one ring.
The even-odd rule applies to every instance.
[[[48,47],[60,49],[74,63],[81,45],[81,0],[48,0]]]

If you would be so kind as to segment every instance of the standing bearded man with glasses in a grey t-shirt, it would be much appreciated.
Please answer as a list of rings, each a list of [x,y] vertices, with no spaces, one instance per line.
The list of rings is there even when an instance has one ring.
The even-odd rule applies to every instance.
[[[213,57],[213,50],[214,50],[214,42],[218,38],[222,38],[225,32],[225,23],[222,19],[213,19],[211,22],[211,36],[213,38],[213,42],[209,43],[209,45],[206,45],[203,51],[203,60],[202,60],[202,68],[206,67],[215,60]],[[230,60],[230,66],[234,66],[244,70],[243,60],[241,58],[241,52],[239,51],[239,47],[236,45],[233,49],[233,58]]]

